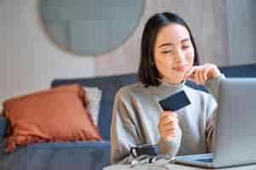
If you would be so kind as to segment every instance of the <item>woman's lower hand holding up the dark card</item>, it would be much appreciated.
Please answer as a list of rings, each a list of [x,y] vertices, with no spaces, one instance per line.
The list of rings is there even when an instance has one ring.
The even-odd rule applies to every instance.
[[[163,111],[158,123],[158,131],[160,137],[167,141],[177,138],[179,125],[177,113],[172,111]]]

